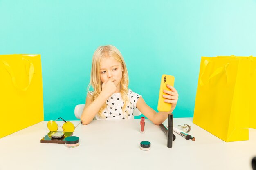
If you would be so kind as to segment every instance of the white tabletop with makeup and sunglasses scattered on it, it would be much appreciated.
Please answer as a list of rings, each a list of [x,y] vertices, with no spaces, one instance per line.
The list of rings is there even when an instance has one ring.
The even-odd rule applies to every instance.
[[[142,134],[139,122],[98,120],[79,125],[73,135],[80,138],[76,148],[40,143],[49,132],[47,121],[40,122],[0,139],[0,170],[252,170],[255,129],[249,129],[249,141],[226,143],[193,124],[192,118],[175,118],[174,127],[191,125],[196,140],[175,134],[173,147],[167,148],[159,126],[146,119]],[[151,150],[140,150],[141,141],[150,141]]]

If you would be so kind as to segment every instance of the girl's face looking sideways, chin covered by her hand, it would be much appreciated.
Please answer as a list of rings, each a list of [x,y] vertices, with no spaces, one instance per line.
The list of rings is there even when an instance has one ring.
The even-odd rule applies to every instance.
[[[122,79],[122,71],[124,71],[122,64],[114,58],[106,57],[101,60],[100,76],[102,83],[113,78],[115,79],[115,85],[119,87]]]

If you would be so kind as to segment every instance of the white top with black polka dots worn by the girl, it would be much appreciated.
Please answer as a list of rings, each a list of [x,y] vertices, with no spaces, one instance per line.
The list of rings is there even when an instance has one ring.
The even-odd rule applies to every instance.
[[[92,91],[89,92],[92,95]],[[105,117],[99,117],[98,114],[94,117],[94,120],[112,120],[112,119],[134,119],[133,111],[136,107],[137,101],[141,95],[131,91],[128,91],[128,99],[130,100],[127,104],[128,116],[123,111],[123,99],[121,93],[112,94],[106,101],[107,107],[102,111]]]

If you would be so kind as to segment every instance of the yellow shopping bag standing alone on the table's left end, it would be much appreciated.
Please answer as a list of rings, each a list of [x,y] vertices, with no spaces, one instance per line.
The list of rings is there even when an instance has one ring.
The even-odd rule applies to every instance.
[[[0,138],[43,121],[40,55],[0,55]]]

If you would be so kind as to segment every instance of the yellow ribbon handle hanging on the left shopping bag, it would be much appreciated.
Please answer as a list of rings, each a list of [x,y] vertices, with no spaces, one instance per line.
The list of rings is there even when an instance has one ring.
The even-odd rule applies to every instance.
[[[11,66],[4,60],[2,60],[2,62],[4,63],[4,68],[8,71],[8,73],[11,75],[11,79],[12,79],[12,82],[13,82],[13,85],[15,88],[21,90],[21,91],[26,91],[30,84],[31,84],[31,81],[32,81],[32,78],[33,78],[33,75],[35,73],[35,68],[34,68],[34,64],[32,62],[30,62],[30,67],[29,67],[29,82],[28,82],[28,85],[27,87],[25,88],[20,88],[16,82],[16,78],[14,76],[14,73],[13,73],[13,70],[11,68]]]

